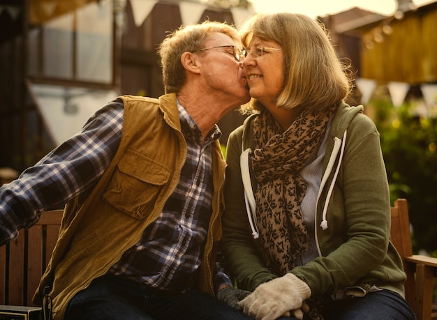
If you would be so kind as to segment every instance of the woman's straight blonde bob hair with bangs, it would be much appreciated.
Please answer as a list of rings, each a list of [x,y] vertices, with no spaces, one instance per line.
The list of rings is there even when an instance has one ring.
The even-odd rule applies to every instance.
[[[244,22],[239,34],[244,47],[257,36],[283,49],[285,81],[276,98],[277,107],[324,108],[345,100],[350,93],[348,67],[341,63],[327,30],[316,20],[297,13],[259,13]],[[262,108],[253,99],[241,111]]]

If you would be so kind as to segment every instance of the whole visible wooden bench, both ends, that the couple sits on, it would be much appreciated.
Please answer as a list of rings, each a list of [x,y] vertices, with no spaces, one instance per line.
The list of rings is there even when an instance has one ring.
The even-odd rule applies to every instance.
[[[57,241],[62,213],[62,210],[43,213],[33,227],[0,247],[0,305],[34,305],[31,298]],[[413,255],[406,199],[394,201],[391,215],[390,238],[407,274],[406,300],[417,320],[437,319],[437,312],[431,312],[437,259]]]

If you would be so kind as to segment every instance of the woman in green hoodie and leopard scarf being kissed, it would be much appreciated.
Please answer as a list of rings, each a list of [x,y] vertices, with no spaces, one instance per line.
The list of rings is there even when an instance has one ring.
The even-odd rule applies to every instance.
[[[379,134],[344,102],[350,79],[325,29],[258,14],[240,34],[251,116],[228,140],[223,216],[229,268],[253,291],[238,307],[262,320],[415,319]]]

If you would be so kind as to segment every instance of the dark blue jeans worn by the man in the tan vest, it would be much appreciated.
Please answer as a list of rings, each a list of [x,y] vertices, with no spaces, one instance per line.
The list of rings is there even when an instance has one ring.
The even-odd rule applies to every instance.
[[[164,294],[142,284],[102,277],[76,294],[66,320],[253,320],[201,291]]]

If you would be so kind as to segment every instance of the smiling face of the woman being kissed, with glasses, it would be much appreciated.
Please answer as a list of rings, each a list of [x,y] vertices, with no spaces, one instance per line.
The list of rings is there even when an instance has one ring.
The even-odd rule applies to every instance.
[[[278,43],[254,36],[246,47],[249,54],[243,60],[244,74],[250,95],[265,107],[276,107],[283,83],[283,52]]]

